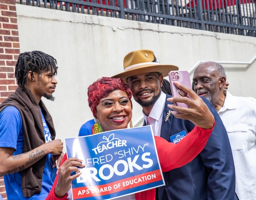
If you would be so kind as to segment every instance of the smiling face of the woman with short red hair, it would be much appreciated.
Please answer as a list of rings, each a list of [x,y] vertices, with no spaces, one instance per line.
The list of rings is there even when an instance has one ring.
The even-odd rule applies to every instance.
[[[131,121],[131,101],[125,91],[114,90],[99,100],[96,116],[103,131],[127,128]]]

